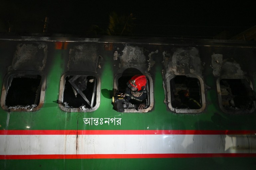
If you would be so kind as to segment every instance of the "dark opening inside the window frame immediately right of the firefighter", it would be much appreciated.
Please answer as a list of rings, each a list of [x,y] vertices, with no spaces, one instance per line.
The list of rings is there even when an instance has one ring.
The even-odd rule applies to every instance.
[[[184,75],[170,80],[171,104],[176,109],[200,109],[202,107],[200,81]]]

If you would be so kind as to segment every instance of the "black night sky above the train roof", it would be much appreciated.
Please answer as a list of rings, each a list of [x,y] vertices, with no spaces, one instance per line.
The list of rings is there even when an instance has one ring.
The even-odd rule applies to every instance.
[[[106,29],[109,14],[129,16],[133,36],[231,38],[256,25],[256,1],[0,1],[0,32],[91,36],[91,25]],[[99,34],[104,34],[99,32]]]

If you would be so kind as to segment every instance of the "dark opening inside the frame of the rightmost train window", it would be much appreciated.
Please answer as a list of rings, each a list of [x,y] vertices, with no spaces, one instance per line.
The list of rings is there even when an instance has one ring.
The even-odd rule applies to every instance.
[[[245,79],[221,79],[221,105],[225,109],[247,109],[254,106],[255,95]]]

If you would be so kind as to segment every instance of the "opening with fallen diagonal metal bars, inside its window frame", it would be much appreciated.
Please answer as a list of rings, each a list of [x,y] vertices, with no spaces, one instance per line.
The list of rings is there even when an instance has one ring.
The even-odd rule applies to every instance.
[[[94,76],[67,76],[63,104],[70,108],[93,108],[96,105],[96,78]]]

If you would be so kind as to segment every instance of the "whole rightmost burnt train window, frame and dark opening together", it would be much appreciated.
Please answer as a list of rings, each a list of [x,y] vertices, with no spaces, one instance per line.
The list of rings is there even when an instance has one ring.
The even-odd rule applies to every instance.
[[[217,79],[219,106],[226,113],[251,113],[256,99],[252,82],[246,77]]]

